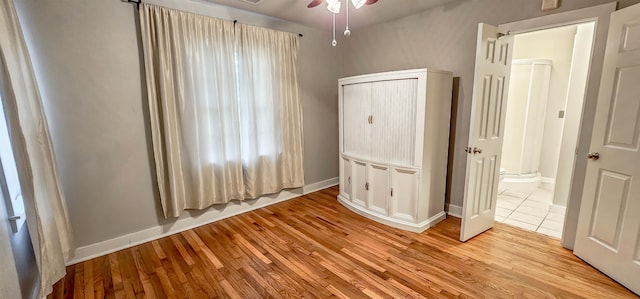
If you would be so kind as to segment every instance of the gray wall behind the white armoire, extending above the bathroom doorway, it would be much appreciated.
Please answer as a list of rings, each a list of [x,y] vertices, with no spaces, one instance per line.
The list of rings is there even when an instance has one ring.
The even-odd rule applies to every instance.
[[[462,206],[478,23],[513,21],[585,8],[609,0],[564,0],[542,12],[537,0],[465,0],[366,29],[352,30],[342,42],[340,76],[431,67],[460,77],[457,128],[453,144],[452,188],[447,203]],[[618,1],[627,7],[639,0]]]

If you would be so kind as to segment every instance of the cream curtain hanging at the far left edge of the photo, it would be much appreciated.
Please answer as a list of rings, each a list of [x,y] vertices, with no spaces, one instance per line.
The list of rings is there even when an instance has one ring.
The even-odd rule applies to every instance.
[[[0,0],[0,88],[40,272],[39,298],[66,274],[73,238],[53,146],[13,0]]]

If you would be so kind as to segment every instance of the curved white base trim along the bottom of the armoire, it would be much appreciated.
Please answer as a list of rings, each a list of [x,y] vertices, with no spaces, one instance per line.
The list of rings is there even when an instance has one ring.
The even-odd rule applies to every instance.
[[[397,218],[392,218],[386,215],[382,215],[382,214],[378,214],[375,213],[365,207],[359,206],[357,204],[352,203],[351,201],[349,201],[348,199],[343,198],[342,195],[338,195],[338,202],[340,202],[343,206],[345,206],[347,209],[351,210],[351,212],[354,212],[362,217],[371,219],[373,221],[382,223],[384,225],[388,225],[391,227],[395,227],[395,228],[399,228],[399,229],[404,229],[404,230],[408,230],[410,232],[414,232],[414,233],[421,233],[425,230],[427,230],[427,228],[430,228],[434,225],[436,225],[436,223],[444,220],[445,218],[447,218],[447,214],[442,211],[440,213],[435,214],[434,216],[432,216],[431,218],[419,222],[419,223],[415,223],[415,222],[409,222],[409,221],[405,221],[405,220],[400,220]]]

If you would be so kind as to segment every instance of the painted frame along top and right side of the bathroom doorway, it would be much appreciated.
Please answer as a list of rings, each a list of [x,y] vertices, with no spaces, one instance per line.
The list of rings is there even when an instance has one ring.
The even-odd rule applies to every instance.
[[[591,144],[591,133],[595,118],[600,78],[604,63],[604,51],[609,30],[611,13],[616,10],[617,2],[611,2],[592,7],[551,14],[547,16],[501,24],[498,27],[502,31],[510,31],[512,34],[526,33],[544,30],[566,25],[575,25],[585,22],[595,22],[593,46],[591,50],[591,63],[587,75],[587,90],[582,107],[582,117],[578,133],[576,157],[584,157]],[[587,168],[586,159],[575,159],[572,173],[567,212],[562,232],[562,246],[573,249],[582,202],[582,187]]]

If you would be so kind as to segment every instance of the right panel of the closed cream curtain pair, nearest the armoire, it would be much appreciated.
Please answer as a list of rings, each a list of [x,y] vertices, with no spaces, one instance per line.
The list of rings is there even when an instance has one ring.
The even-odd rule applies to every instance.
[[[236,34],[245,197],[301,187],[299,36],[244,24]]]

